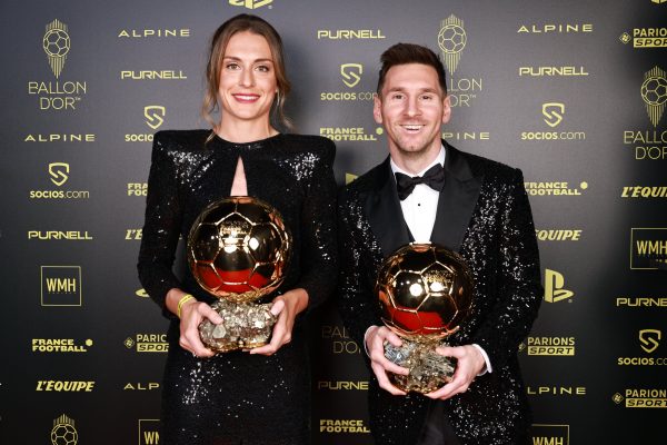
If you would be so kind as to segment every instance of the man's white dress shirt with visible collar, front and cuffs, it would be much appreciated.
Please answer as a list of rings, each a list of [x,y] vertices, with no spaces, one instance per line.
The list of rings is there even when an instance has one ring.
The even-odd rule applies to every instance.
[[[391,172],[394,174],[400,172],[407,176],[424,176],[424,174],[436,164],[445,166],[445,147],[440,146],[440,152],[438,154],[438,157],[417,175],[412,175],[402,170],[394,162],[394,159],[390,159],[389,164],[391,166]],[[394,180],[396,180],[394,175],[392,177]],[[410,229],[410,234],[412,234],[412,238],[415,238],[415,243],[430,243],[430,236],[434,231],[434,226],[436,225],[436,214],[438,211],[439,197],[439,191],[434,190],[426,184],[418,184],[415,186],[412,192],[406,199],[400,201],[404,219]],[[369,326],[368,329],[371,327],[372,326]],[[368,336],[368,329],[366,329],[366,334],[364,335],[364,348],[366,349],[367,355],[368,348],[366,346],[366,337]],[[479,373],[479,375],[492,372],[491,363],[487,353],[477,344],[472,344],[472,346],[475,346],[481,353],[481,356],[486,363],[486,369]]]

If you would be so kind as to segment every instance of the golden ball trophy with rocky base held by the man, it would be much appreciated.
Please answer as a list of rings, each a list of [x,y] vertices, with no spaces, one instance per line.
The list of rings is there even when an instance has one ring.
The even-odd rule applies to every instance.
[[[376,293],[385,325],[402,345],[385,356],[409,375],[388,373],[405,392],[430,393],[451,380],[456,359],[436,353],[472,309],[472,277],[462,257],[435,244],[410,244],[385,260]]]

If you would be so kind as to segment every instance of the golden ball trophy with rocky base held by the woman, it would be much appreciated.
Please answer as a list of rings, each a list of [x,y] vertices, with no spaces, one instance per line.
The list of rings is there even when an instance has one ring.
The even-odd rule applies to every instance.
[[[269,342],[271,304],[252,301],[280,286],[290,248],[282,217],[260,199],[229,197],[203,209],[188,235],[187,255],[197,283],[218,298],[211,307],[223,320],[199,325],[207,347],[226,353]]]

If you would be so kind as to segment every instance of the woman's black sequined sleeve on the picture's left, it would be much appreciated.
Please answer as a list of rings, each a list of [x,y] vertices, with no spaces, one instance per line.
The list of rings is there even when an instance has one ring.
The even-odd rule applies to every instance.
[[[153,138],[151,167],[146,198],[146,220],[139,249],[139,280],[150,298],[168,318],[175,315],[166,307],[169,289],[180,287],[172,273],[176,247],[180,236],[181,202],[178,194],[177,168],[169,152],[169,141],[161,132]]]

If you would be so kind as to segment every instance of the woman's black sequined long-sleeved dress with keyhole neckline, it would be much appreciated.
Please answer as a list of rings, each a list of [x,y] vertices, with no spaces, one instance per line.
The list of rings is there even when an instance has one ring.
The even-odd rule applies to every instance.
[[[173,271],[179,237],[187,239],[199,212],[229,196],[238,158],[248,195],[275,206],[293,238],[285,281],[302,287],[309,309],[336,285],[334,144],[316,136],[278,135],[231,144],[210,131],[160,131],[153,138],[139,278],[171,320],[162,385],[165,445],[291,445],[309,443],[310,385],[299,315],[292,340],[270,357],[242,352],[199,359],[178,345],[179,322],[165,307],[178,287],[212,303],[189,270]],[[270,301],[275,295],[260,301]],[[306,314],[308,313],[306,312]]]

